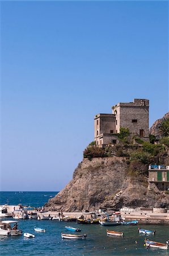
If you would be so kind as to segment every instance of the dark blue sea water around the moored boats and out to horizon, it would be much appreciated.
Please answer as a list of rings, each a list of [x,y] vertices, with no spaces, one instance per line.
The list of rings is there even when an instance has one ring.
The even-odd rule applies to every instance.
[[[27,205],[42,207],[58,192],[0,192],[0,204]],[[11,218],[12,219],[12,218]],[[10,218],[7,218],[10,220]],[[86,240],[62,240],[61,232],[68,232],[65,226],[81,228],[87,234]],[[44,228],[46,233],[34,232],[34,227]],[[169,226],[139,225],[141,228],[156,230],[155,236],[149,239],[157,242],[169,240]],[[124,232],[124,237],[107,236],[107,227],[97,224],[76,224],[57,220],[19,220],[19,229],[23,233],[35,234],[35,238],[0,237],[0,255],[169,255],[168,250],[147,249],[145,236],[138,234],[138,226],[109,226],[110,230]],[[137,241],[137,243],[136,243]]]

